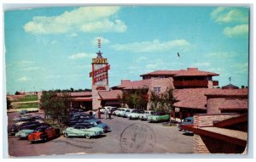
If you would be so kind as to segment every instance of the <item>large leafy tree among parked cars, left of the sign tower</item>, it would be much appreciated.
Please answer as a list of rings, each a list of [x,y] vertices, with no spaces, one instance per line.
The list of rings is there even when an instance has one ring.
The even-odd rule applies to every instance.
[[[44,118],[57,120],[58,126],[66,124],[70,112],[71,97],[69,93],[44,91],[40,99],[40,109],[44,109]]]

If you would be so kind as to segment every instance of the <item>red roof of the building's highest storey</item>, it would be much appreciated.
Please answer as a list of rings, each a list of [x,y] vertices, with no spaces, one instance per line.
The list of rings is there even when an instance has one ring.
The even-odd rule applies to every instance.
[[[187,70],[156,70],[144,75],[172,75],[172,76],[205,76],[205,75],[218,75],[208,71],[198,70],[197,68],[188,68]]]

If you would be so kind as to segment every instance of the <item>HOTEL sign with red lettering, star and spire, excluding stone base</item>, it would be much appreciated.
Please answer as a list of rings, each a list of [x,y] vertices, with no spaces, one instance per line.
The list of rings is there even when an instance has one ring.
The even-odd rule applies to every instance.
[[[101,48],[101,39],[98,39],[98,47]],[[97,57],[92,59],[92,71],[90,72],[90,77],[92,77],[92,85],[96,86],[107,86],[108,85],[108,70],[110,70],[110,65],[108,60],[102,58],[102,53],[99,50]]]

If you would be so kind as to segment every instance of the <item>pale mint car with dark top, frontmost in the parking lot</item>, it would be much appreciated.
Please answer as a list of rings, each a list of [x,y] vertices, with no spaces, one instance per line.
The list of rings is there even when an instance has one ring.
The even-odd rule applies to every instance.
[[[63,131],[64,137],[85,137],[87,139],[102,135],[103,133],[102,128],[93,127],[93,125],[89,123],[81,123],[73,127],[67,127],[67,129]]]

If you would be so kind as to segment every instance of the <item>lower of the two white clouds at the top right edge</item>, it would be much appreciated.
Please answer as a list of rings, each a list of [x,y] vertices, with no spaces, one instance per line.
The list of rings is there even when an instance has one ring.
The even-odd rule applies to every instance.
[[[224,28],[224,35],[233,37],[233,36],[246,36],[248,34],[248,25],[236,25],[235,27],[226,27]]]

